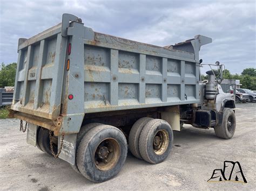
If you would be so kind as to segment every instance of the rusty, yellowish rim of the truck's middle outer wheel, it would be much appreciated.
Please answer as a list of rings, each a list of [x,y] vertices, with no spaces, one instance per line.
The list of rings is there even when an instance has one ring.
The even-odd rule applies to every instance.
[[[164,129],[159,130],[153,138],[153,150],[157,155],[163,154],[169,145],[168,132]]]

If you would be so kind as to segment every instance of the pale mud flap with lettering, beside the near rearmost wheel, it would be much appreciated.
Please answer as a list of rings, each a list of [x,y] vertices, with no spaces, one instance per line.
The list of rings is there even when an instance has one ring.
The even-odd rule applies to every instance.
[[[60,139],[62,136],[58,136],[58,150],[60,146]],[[69,162],[71,165],[75,165],[76,160],[76,142],[77,134],[65,135],[63,140],[62,152],[59,154],[59,158]]]

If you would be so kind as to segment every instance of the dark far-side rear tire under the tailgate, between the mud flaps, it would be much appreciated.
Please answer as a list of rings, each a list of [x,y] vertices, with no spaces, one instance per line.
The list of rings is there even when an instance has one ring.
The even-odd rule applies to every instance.
[[[52,132],[53,136],[53,132]],[[52,155],[51,153],[51,146],[50,146],[50,136],[49,136],[49,130],[45,128],[40,128],[38,132],[38,145],[41,150],[49,155]],[[52,143],[53,151],[55,153],[58,152],[58,145],[55,143]]]

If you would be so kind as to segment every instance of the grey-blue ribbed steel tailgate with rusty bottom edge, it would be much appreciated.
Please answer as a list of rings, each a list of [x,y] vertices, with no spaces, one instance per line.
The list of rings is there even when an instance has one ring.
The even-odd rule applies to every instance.
[[[18,44],[11,109],[16,117],[52,130],[61,124],[59,115],[68,44],[63,29],[69,21],[66,19],[65,23],[30,39],[19,39]]]

